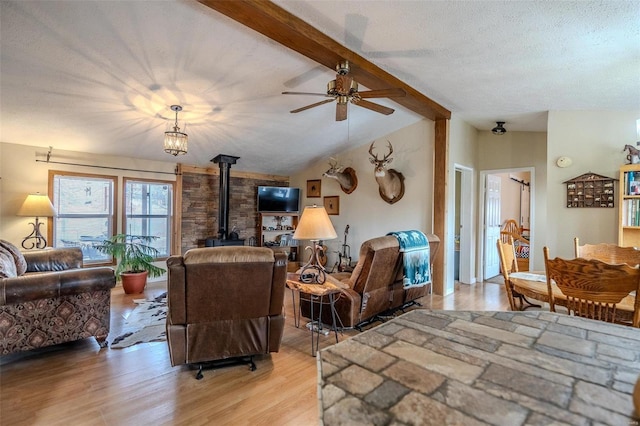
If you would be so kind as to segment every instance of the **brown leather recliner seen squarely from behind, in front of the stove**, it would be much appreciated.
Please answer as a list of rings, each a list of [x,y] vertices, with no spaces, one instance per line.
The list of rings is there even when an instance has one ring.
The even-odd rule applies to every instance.
[[[287,257],[265,247],[196,248],[167,259],[171,365],[278,352]],[[248,358],[248,359],[247,359]],[[208,366],[215,364],[208,363]]]

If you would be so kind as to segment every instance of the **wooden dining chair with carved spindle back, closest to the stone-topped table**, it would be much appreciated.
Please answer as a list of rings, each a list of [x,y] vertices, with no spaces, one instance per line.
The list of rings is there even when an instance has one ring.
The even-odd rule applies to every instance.
[[[606,322],[618,321],[618,304],[635,291],[640,294],[640,269],[627,264],[605,263],[597,259],[549,258],[544,248],[549,305],[555,312],[555,284],[566,296],[570,314]],[[631,325],[640,326],[640,298],[634,298]]]

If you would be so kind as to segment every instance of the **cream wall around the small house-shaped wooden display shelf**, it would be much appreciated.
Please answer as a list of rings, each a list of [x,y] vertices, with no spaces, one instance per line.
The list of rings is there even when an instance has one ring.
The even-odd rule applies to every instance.
[[[592,172],[619,178],[619,168],[626,163],[626,144],[638,141],[637,111],[551,111],[549,113],[548,206],[543,241],[552,256],[572,257],[573,238],[582,243],[618,242],[618,184],[614,208],[567,208],[566,185],[563,183]],[[556,161],[570,157],[571,166],[560,168]],[[552,219],[552,220],[551,220]],[[541,250],[543,245],[541,244]]]

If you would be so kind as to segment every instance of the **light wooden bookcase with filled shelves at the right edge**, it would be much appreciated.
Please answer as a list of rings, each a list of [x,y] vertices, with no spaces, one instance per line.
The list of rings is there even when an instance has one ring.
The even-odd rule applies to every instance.
[[[640,247],[640,164],[620,168],[618,245]]]

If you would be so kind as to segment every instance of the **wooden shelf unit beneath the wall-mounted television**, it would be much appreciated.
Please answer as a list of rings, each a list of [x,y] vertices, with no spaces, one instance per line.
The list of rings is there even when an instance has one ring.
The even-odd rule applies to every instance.
[[[258,232],[261,247],[284,250],[288,254],[290,272],[298,269],[300,250],[293,233],[298,226],[298,213],[260,213]]]

